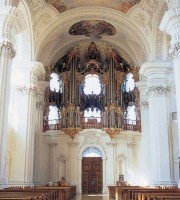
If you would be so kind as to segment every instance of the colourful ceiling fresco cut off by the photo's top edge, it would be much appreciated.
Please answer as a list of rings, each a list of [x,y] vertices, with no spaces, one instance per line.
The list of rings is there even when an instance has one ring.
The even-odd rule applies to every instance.
[[[46,3],[54,6],[60,13],[82,6],[102,6],[112,8],[123,13],[139,4],[141,0],[46,0]]]

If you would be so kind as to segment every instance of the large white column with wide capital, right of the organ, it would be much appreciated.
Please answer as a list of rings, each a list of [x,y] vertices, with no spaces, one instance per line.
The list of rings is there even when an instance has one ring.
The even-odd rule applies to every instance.
[[[141,71],[148,79],[149,144],[153,185],[172,185],[170,146],[169,63],[146,63]]]

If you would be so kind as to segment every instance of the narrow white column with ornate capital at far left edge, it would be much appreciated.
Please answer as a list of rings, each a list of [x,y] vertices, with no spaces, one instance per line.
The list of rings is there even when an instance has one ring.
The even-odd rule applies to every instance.
[[[11,80],[11,61],[15,51],[10,42],[0,44],[0,188],[5,186],[5,157],[7,143],[8,107]]]

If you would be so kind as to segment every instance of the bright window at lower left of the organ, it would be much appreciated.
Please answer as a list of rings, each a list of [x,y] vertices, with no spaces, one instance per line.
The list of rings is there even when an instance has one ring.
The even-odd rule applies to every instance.
[[[59,110],[57,106],[49,106],[48,124],[59,124]]]

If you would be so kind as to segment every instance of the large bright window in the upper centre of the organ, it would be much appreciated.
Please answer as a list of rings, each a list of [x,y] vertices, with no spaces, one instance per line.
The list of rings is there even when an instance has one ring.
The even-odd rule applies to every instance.
[[[85,86],[84,93],[88,94],[100,94],[101,93],[101,84],[99,80],[99,76],[96,74],[88,74],[85,77]]]

